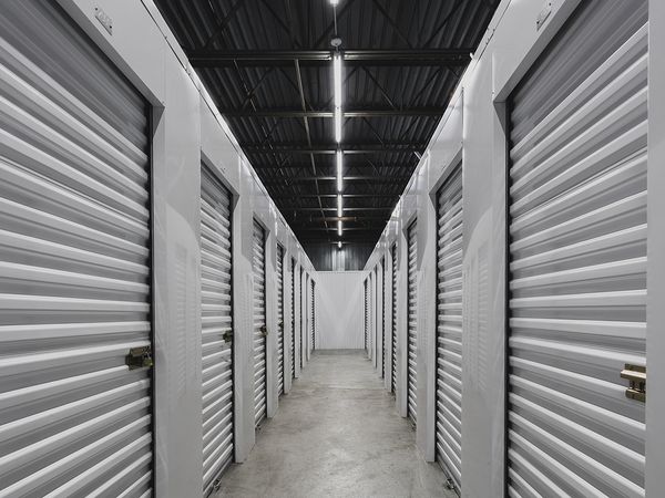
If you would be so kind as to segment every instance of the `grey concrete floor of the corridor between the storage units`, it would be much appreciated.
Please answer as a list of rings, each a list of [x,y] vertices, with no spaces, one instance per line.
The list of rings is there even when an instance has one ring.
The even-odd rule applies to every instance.
[[[217,497],[454,497],[361,351],[317,352]]]

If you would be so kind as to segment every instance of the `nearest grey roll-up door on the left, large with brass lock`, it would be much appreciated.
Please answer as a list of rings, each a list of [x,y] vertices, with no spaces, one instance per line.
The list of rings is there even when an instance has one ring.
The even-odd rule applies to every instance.
[[[55,2],[0,33],[0,496],[150,494],[150,107]]]

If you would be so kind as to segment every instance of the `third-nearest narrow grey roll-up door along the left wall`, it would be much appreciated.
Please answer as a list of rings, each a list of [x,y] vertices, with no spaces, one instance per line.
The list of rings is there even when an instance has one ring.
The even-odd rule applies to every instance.
[[[254,220],[252,271],[254,274],[254,422],[266,417],[266,234]]]

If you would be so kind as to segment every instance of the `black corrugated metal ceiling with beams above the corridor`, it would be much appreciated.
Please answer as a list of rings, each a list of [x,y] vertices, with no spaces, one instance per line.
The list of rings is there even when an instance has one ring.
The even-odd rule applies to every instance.
[[[337,235],[329,0],[156,0],[304,245],[375,243],[499,0],[340,0]]]

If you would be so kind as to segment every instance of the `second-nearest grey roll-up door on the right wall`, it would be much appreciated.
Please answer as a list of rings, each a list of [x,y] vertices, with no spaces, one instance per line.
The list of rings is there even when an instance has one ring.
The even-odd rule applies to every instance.
[[[456,489],[462,471],[462,166],[438,195],[437,459]]]

